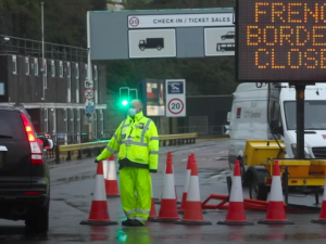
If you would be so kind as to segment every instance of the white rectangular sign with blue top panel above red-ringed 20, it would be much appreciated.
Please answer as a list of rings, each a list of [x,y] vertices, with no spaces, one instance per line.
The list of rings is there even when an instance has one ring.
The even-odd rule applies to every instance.
[[[166,117],[186,116],[186,81],[167,79],[166,81]]]

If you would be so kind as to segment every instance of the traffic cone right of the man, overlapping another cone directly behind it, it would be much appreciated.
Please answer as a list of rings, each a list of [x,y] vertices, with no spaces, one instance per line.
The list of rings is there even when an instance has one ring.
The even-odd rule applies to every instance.
[[[177,220],[175,224],[187,224],[187,226],[208,226],[212,224],[211,221],[204,221],[202,217],[200,191],[199,191],[199,179],[198,169],[195,157],[190,157],[192,162],[191,174],[189,179],[189,188],[186,201],[186,208],[183,220]]]

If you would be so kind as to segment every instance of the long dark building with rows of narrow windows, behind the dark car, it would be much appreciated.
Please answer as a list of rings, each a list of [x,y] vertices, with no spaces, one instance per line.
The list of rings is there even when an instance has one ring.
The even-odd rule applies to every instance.
[[[0,102],[22,103],[37,133],[90,133],[105,130],[105,67],[93,65],[95,113],[85,115],[87,50],[0,36]],[[43,68],[43,69],[42,69]],[[80,137],[75,137],[80,139]]]

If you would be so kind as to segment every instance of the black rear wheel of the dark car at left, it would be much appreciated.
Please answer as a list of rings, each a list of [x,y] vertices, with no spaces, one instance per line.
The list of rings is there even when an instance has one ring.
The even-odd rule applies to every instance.
[[[49,230],[49,208],[50,202],[40,209],[33,210],[25,220],[26,228],[29,232],[47,233]]]

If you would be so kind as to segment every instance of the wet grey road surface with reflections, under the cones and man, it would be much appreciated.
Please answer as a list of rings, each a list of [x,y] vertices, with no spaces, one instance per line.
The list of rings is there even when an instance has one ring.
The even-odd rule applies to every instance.
[[[159,172],[152,175],[154,197],[160,197],[163,189],[166,152],[173,153],[175,184],[180,201],[185,181],[185,169],[190,153],[195,153],[199,167],[201,200],[211,193],[227,194],[226,176],[230,174],[227,162],[227,141],[198,142],[193,145],[170,146],[161,149]],[[125,219],[120,197],[108,198],[111,220],[116,226],[80,226],[87,219],[92,201],[96,164],[93,158],[74,160],[51,166],[51,205],[50,230],[47,235],[26,235],[23,221],[0,220],[0,244],[2,243],[324,243],[326,226],[311,223],[318,214],[287,214],[292,226],[262,226],[259,220],[265,218],[265,211],[246,211],[248,221],[254,226],[217,226],[225,220],[225,210],[208,210],[204,220],[212,226],[187,227],[173,223],[147,222],[146,227],[122,227]],[[248,189],[243,189],[248,197]],[[322,200],[322,198],[321,198]],[[292,195],[290,203],[312,205],[313,196]],[[214,202],[212,202],[214,203]],[[159,214],[160,205],[155,205]],[[183,216],[180,215],[180,218]]]

